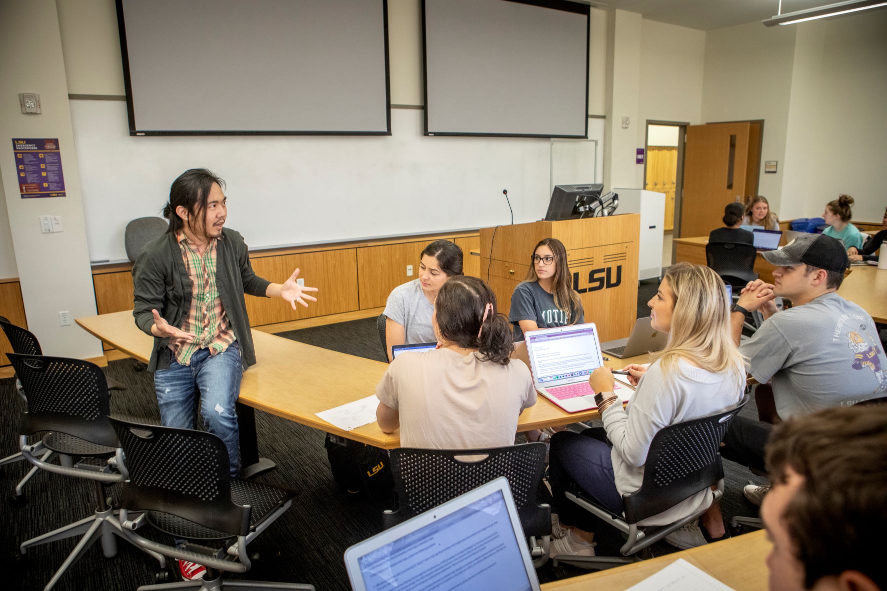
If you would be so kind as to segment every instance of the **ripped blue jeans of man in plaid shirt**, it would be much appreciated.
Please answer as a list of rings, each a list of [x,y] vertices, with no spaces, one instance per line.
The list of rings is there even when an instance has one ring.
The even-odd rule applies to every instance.
[[[210,355],[209,349],[198,349],[191,357],[191,365],[181,365],[173,356],[168,369],[154,372],[154,392],[164,426],[193,429],[194,399],[200,391],[203,423],[228,448],[232,476],[240,472],[239,430],[234,404],[240,393],[241,377],[243,367],[237,341],[216,355]]]

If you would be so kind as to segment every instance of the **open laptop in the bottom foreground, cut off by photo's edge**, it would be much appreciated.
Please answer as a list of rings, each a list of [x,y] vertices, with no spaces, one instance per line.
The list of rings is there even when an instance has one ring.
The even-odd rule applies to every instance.
[[[355,591],[538,591],[508,480],[496,478],[345,550]]]

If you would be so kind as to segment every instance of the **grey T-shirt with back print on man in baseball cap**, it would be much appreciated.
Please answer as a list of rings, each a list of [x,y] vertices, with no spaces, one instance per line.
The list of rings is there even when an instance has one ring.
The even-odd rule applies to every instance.
[[[774,314],[739,350],[752,377],[761,384],[773,379],[783,419],[887,393],[875,322],[834,292]]]

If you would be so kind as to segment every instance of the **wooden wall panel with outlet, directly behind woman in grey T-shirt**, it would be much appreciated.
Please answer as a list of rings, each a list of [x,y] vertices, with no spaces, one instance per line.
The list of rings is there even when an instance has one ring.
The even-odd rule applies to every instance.
[[[357,284],[360,309],[385,306],[397,285],[419,278],[420,253],[428,242],[367,246],[357,249]],[[469,255],[470,256],[470,255]],[[406,266],[412,265],[412,276]]]

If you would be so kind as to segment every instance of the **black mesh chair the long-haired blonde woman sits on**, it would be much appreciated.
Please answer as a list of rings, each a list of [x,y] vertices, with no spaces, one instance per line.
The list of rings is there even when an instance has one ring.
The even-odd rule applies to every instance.
[[[724,491],[724,468],[718,450],[730,419],[748,401],[749,395],[745,394],[739,404],[730,410],[672,424],[657,432],[650,444],[640,488],[622,495],[624,515],[611,513],[577,487],[566,492],[567,498],[627,534],[628,539],[620,548],[623,556],[631,556],[648,548],[669,533],[698,519],[708,507],[670,525],[645,527],[641,530],[638,525],[641,521],[671,509],[711,486],[718,487],[712,491],[712,502],[721,497]],[[555,566],[564,562],[597,569],[636,560],[635,557],[620,556],[553,556]]]

